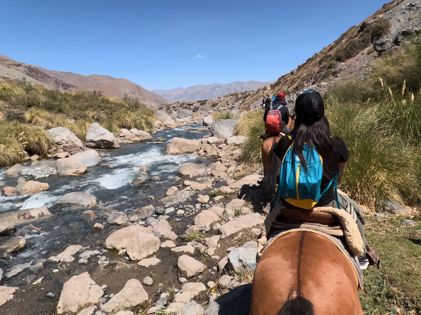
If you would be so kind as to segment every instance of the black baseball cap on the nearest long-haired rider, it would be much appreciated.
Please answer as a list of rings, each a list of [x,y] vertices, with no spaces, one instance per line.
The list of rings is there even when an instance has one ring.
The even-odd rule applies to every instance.
[[[295,113],[301,121],[318,120],[325,114],[325,103],[319,92],[304,91],[295,101]]]

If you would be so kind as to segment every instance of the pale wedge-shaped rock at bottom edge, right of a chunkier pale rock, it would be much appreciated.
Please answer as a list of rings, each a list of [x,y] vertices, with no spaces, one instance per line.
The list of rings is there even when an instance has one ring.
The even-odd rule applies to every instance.
[[[133,307],[148,300],[148,294],[143,289],[142,283],[137,279],[130,279],[126,282],[123,290],[115,294],[101,310],[112,312],[120,307]]]

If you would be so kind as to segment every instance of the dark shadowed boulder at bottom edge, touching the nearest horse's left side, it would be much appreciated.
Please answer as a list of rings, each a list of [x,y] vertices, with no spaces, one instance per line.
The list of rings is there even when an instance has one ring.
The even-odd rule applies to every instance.
[[[251,284],[237,286],[211,302],[205,315],[248,315],[250,299]]]

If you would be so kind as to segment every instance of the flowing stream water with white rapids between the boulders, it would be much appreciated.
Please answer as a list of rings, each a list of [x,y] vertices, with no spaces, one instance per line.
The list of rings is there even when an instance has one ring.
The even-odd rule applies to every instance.
[[[154,135],[155,138],[165,138],[166,143],[130,143],[120,145],[120,149],[101,151],[100,155],[104,160],[100,164],[113,164],[114,168],[97,165],[88,167],[88,171],[82,176],[53,175],[39,180],[50,185],[49,191],[32,196],[0,197],[0,213],[47,206],[53,214],[48,219],[41,218],[32,222],[43,229],[40,234],[21,234],[26,238],[27,245],[18,254],[11,254],[6,258],[8,265],[48,258],[68,245],[86,244],[89,238],[95,238],[92,222],[80,215],[83,210],[52,206],[54,201],[66,193],[89,192],[104,206],[126,214],[134,208],[153,204],[155,201],[144,200],[149,195],[161,199],[165,196],[165,191],[173,186],[173,178],[177,175],[179,165],[198,158],[192,154],[165,155],[167,143],[171,142],[173,137],[202,139],[207,131],[197,131],[198,127],[201,126],[193,124],[184,126],[183,129],[159,131]],[[149,169],[147,177],[158,175],[161,182],[148,180],[140,187],[133,187],[132,180],[139,176],[135,172],[142,165]],[[7,185],[15,187],[18,177],[6,177],[6,170],[7,167],[0,169],[0,178],[3,177]],[[18,232],[19,228],[27,224],[25,222],[16,225]]]

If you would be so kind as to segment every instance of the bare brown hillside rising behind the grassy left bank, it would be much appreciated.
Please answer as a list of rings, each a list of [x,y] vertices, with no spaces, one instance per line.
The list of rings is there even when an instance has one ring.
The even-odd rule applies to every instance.
[[[132,99],[139,99],[152,108],[168,101],[151,91],[145,90],[128,79],[114,78],[108,75],[91,74],[84,76],[82,74],[53,71],[20,63],[6,56],[0,55],[0,77],[9,77],[11,79],[26,79],[32,83],[44,85],[49,89],[63,91],[101,91],[102,94],[117,98],[123,98],[127,95]]]

